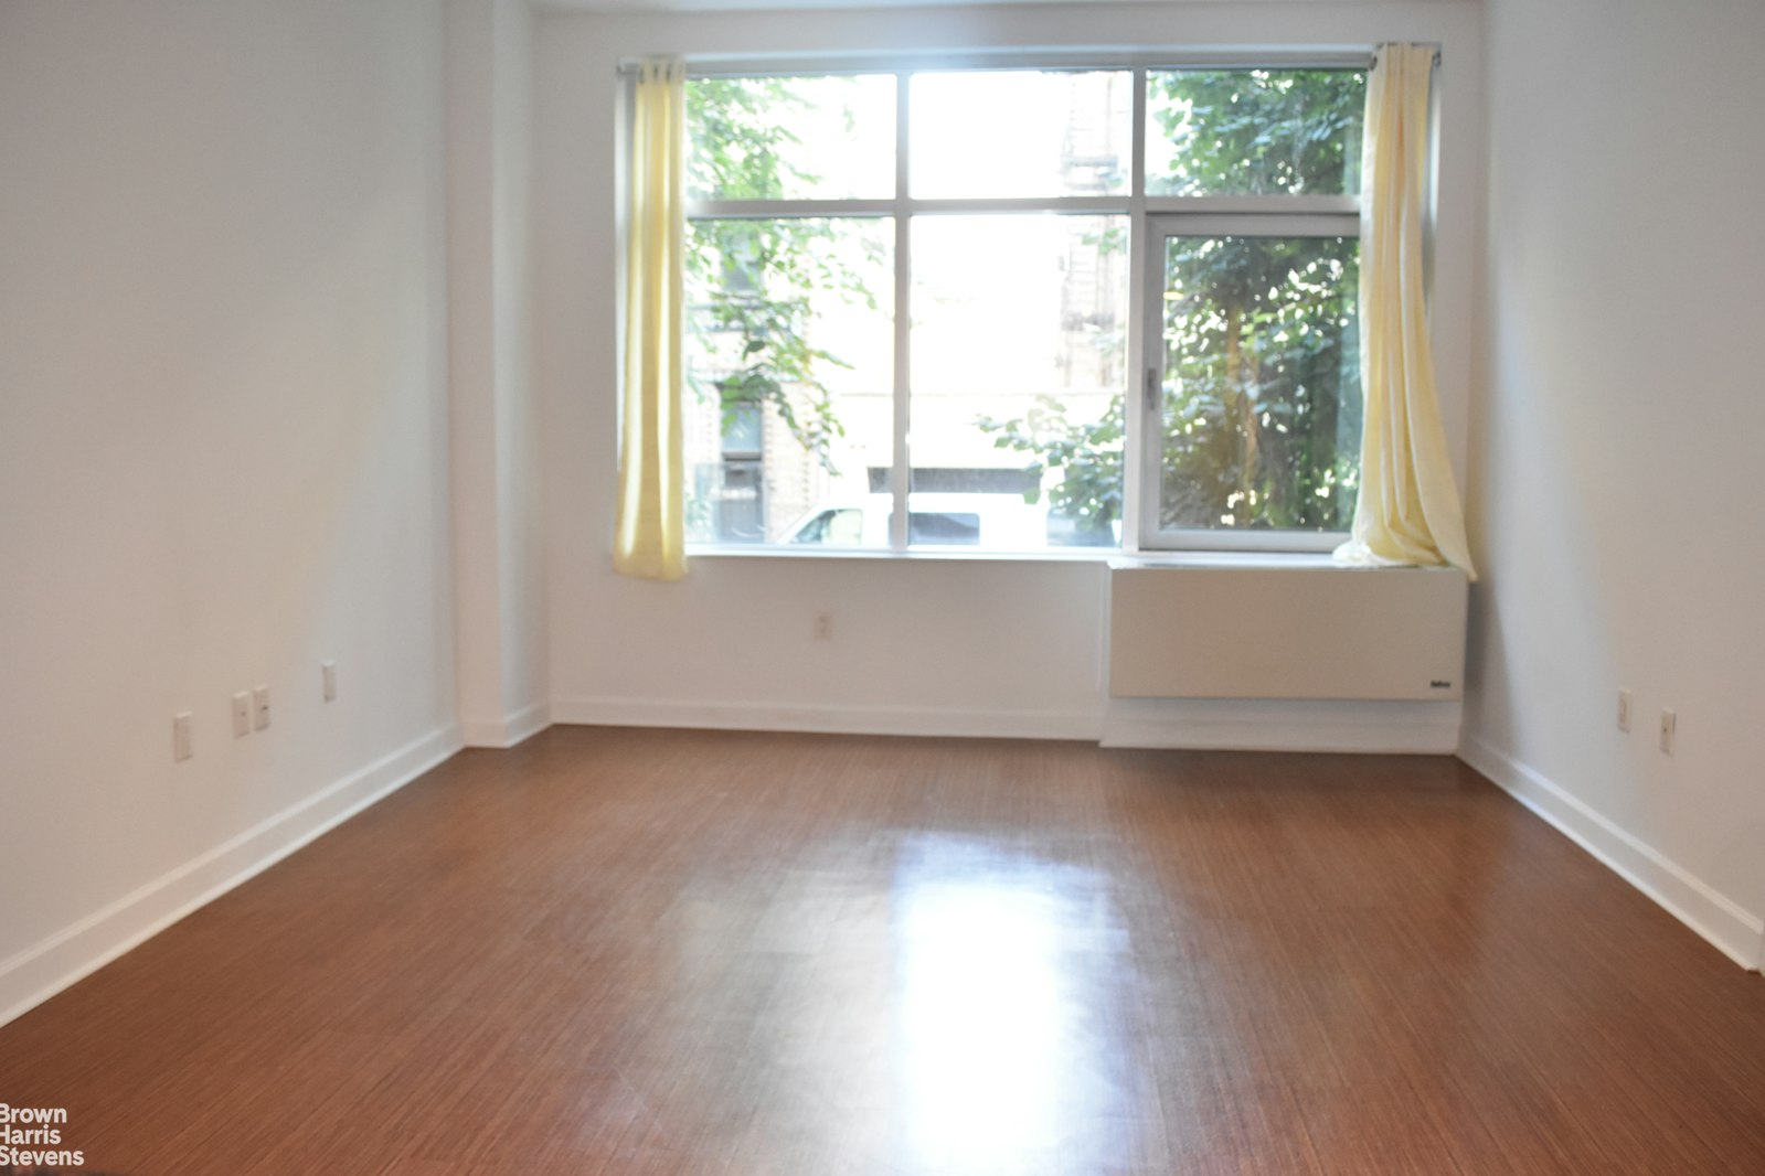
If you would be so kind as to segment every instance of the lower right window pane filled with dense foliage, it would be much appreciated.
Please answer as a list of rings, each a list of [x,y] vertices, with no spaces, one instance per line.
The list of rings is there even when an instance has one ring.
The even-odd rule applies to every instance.
[[[1357,270],[1354,238],[1167,240],[1161,527],[1347,529]]]

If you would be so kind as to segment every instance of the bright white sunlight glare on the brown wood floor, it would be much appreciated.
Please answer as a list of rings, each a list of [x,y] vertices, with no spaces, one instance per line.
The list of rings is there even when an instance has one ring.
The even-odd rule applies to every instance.
[[[911,1162],[1043,1167],[1110,1113],[1119,1047],[1091,947],[1101,878],[927,837],[895,878],[898,1077]],[[1103,1079],[1103,1081],[1100,1081]]]

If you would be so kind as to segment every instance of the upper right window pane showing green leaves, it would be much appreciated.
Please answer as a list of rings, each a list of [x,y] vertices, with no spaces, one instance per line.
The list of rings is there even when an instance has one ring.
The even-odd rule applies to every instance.
[[[1366,74],[1347,69],[1149,71],[1153,196],[1361,190]]]

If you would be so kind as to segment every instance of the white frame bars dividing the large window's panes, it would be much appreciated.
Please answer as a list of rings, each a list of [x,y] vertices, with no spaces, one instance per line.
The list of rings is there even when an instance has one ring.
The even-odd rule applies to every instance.
[[[1160,483],[1163,446],[1158,437],[1163,427],[1163,347],[1161,339],[1161,284],[1163,245],[1168,236],[1195,236],[1204,233],[1232,233],[1237,236],[1345,236],[1359,238],[1361,199],[1341,196],[1149,196],[1145,190],[1145,130],[1147,130],[1147,74],[1179,69],[1218,71],[1297,71],[1340,69],[1370,71],[1373,48],[1350,51],[1292,51],[1271,49],[1257,53],[999,53],[999,55],[932,55],[914,60],[891,58],[785,62],[688,62],[688,85],[702,78],[817,78],[893,74],[895,76],[895,192],[890,197],[851,199],[687,199],[687,220],[711,219],[812,219],[812,217],[868,217],[893,224],[893,437],[890,465],[890,536],[888,547],[815,547],[789,543],[718,543],[694,541],[694,554],[791,554],[791,555],[957,555],[957,557],[1038,557],[1038,559],[1110,559],[1137,552],[1327,552],[1347,538],[1345,531],[1299,529],[1163,529],[1160,518]],[[1131,143],[1130,182],[1126,194],[1114,196],[1050,196],[1050,197],[914,197],[911,194],[911,95],[909,79],[921,72],[1130,72],[1131,74]],[[690,148],[688,148],[690,150]],[[909,536],[911,497],[911,333],[913,333],[913,219],[937,213],[1052,213],[1052,215],[1124,215],[1128,219],[1128,314],[1126,314],[1126,383],[1121,390],[1126,404],[1124,460],[1123,460],[1123,518],[1119,547],[1048,547],[1027,550],[948,548],[913,545]],[[1172,226],[1183,226],[1175,231]],[[1232,227],[1216,227],[1232,226]],[[1138,307],[1135,301],[1138,300]]]

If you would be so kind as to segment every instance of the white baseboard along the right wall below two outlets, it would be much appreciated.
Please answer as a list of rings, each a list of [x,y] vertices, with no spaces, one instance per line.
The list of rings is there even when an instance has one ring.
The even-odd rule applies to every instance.
[[[1758,971],[1765,959],[1765,922],[1719,894],[1689,869],[1619,829],[1560,785],[1520,763],[1490,742],[1467,735],[1460,758],[1514,800],[1557,827],[1663,910],[1709,940],[1742,968]]]

